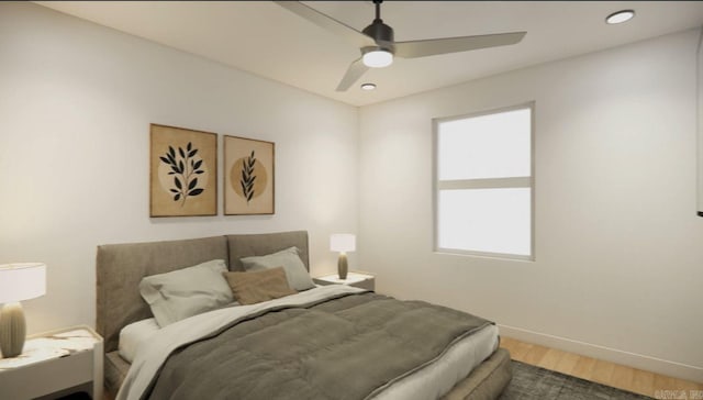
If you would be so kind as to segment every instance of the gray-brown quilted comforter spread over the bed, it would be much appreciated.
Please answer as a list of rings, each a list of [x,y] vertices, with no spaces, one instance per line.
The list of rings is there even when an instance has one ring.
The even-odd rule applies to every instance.
[[[150,399],[366,399],[490,324],[364,292],[264,312],[174,352]]]

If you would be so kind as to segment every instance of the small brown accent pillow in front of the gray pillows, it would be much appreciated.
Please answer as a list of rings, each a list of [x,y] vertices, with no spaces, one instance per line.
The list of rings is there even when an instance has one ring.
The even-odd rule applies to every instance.
[[[254,304],[297,293],[288,286],[283,267],[254,273],[223,273],[222,275],[230,284],[232,295],[239,304]]]

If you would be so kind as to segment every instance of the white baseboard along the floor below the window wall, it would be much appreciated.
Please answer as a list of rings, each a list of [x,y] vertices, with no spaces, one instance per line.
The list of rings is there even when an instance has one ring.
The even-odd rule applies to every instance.
[[[674,378],[703,382],[703,367],[687,365],[666,359],[645,356],[629,352],[599,346],[595,344],[573,341],[566,337],[553,336],[539,332],[532,332],[520,327],[498,325],[503,336],[518,341],[538,344],[569,353],[574,353],[611,363],[626,365],[628,367],[648,370]],[[663,389],[663,388],[662,388]]]

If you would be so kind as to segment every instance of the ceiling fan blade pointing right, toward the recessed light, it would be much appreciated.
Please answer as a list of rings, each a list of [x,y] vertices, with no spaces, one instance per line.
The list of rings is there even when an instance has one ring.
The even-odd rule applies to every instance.
[[[523,40],[527,32],[498,33],[493,35],[431,38],[427,41],[395,42],[395,55],[403,58],[434,56],[437,54],[468,52],[478,48],[506,46]]]

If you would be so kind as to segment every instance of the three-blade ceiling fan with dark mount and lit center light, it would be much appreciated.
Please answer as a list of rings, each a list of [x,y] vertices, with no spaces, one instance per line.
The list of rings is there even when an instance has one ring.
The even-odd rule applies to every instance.
[[[315,23],[359,47],[361,57],[352,63],[337,86],[337,91],[347,90],[369,68],[381,68],[393,63],[393,57],[417,58],[468,52],[478,48],[496,47],[515,44],[527,32],[498,33],[491,35],[458,36],[431,38],[424,41],[395,42],[393,29],[381,20],[382,0],[373,0],[376,19],[364,31],[359,32],[331,16],[321,13],[299,1],[276,1],[280,7]]]

